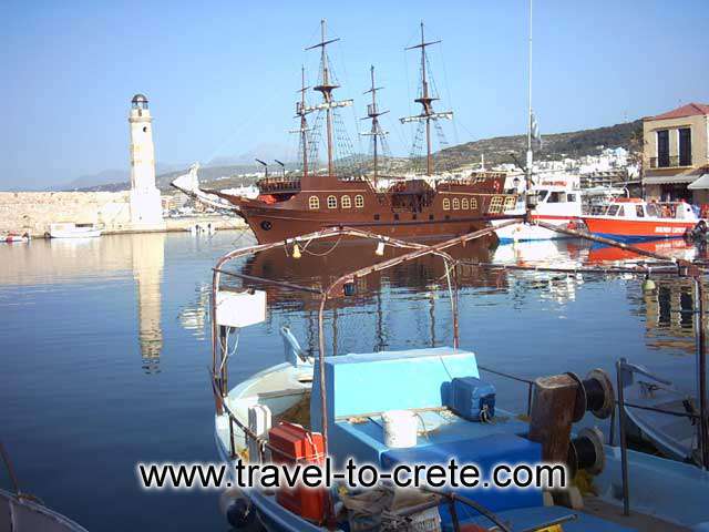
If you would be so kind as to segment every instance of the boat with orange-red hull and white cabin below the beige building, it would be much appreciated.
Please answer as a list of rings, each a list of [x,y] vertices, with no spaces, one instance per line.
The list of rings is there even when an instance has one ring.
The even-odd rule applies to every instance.
[[[582,216],[590,233],[616,241],[681,238],[701,222],[685,202],[656,203],[618,197],[599,214]]]

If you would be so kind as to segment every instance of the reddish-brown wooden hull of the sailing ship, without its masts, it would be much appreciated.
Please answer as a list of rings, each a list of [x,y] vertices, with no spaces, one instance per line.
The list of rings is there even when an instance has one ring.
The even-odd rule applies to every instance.
[[[446,239],[486,227],[501,214],[507,196],[504,177],[441,183],[436,188],[403,182],[386,193],[368,181],[309,176],[307,190],[261,195],[258,200],[209,191],[235,205],[260,244],[327,227],[357,227],[403,239]]]

